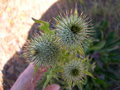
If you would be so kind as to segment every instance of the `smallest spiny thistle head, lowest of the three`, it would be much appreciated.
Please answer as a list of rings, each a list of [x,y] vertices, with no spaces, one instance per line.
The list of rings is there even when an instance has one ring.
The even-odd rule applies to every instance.
[[[63,77],[67,82],[82,83],[87,76],[84,72],[88,69],[87,64],[81,60],[73,60],[64,66]]]

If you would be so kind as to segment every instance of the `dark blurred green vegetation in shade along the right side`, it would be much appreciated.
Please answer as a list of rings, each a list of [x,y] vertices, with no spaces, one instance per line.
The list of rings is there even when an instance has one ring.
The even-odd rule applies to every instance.
[[[84,90],[120,89],[120,1],[79,0],[77,7],[93,18],[97,39],[86,51],[96,62]]]

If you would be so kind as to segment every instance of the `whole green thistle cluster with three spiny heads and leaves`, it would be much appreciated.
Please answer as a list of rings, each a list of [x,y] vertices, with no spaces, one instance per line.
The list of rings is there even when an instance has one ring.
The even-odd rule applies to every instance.
[[[45,73],[40,85],[38,84],[39,89],[51,83],[64,83],[62,89],[71,90],[75,85],[81,88],[87,76],[93,77],[91,72],[95,66],[84,52],[86,43],[92,40],[93,35],[88,19],[77,13],[60,16],[56,19],[56,30],[50,30],[48,22],[33,20],[40,24],[39,29],[43,30],[44,34],[28,42],[24,56],[38,66],[52,66]],[[83,53],[84,57],[77,56]]]

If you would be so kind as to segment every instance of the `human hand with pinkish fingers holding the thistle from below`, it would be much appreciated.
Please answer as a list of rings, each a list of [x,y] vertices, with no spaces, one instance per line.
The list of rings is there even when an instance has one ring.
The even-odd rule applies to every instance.
[[[24,72],[18,77],[15,84],[10,90],[35,90],[37,81],[40,80],[47,71],[46,68],[40,68],[37,72],[34,71],[34,65],[30,64]],[[56,84],[49,85],[43,90],[60,90],[60,86]]]

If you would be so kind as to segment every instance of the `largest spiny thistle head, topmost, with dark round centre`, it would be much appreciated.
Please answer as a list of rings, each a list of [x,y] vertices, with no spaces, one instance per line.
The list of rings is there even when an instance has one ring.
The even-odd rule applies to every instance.
[[[84,47],[86,41],[91,39],[92,26],[83,14],[61,15],[56,22],[57,36],[67,47],[76,48],[80,45]]]

